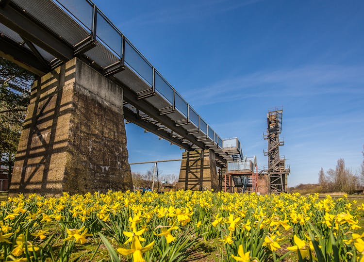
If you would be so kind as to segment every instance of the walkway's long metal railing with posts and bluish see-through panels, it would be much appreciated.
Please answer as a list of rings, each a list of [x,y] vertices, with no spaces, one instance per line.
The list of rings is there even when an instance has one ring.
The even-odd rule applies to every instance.
[[[149,89],[138,92],[139,98],[146,98],[154,93],[163,97],[170,106],[162,114],[168,114],[177,110],[196,127],[197,132],[206,135],[206,139],[211,139],[217,147],[222,148],[222,139],[216,132],[196,113],[182,96],[165,80],[162,74],[148,61],[147,58],[125,37],[120,30],[99,10],[90,0],[52,0],[85,31],[90,33],[87,39],[77,43],[75,46],[84,48],[85,45],[95,44],[95,41],[110,50],[119,61],[113,65],[104,66],[104,74],[110,75],[121,71],[122,66],[130,68]],[[240,142],[239,142],[240,143]]]

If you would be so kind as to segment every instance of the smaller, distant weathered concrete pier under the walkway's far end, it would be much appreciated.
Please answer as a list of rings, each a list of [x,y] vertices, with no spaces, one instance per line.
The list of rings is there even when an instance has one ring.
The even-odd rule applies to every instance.
[[[218,176],[213,150],[183,152],[177,189],[218,190]]]

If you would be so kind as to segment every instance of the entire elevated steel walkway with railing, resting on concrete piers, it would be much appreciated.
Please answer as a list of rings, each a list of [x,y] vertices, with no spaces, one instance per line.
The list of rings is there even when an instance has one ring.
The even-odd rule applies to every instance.
[[[78,57],[124,90],[124,117],[187,150],[241,159],[89,0],[0,0],[0,55],[37,75]],[[120,121],[123,121],[120,119]],[[234,156],[234,157],[233,157]]]

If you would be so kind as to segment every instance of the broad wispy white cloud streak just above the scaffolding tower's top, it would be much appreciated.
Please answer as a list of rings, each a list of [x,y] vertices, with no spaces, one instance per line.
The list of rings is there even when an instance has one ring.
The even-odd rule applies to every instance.
[[[314,65],[255,72],[184,93],[191,103],[215,104],[243,98],[364,94],[364,66]],[[218,99],[217,99],[218,98]]]

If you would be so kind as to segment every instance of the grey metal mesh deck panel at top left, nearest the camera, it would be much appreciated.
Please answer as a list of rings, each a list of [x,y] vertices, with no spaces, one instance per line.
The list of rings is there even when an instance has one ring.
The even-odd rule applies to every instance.
[[[14,0],[20,7],[47,26],[56,34],[62,36],[69,44],[75,45],[85,39],[89,33],[58,5],[49,0]]]

